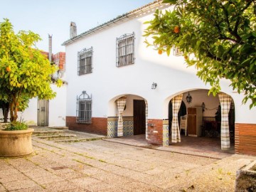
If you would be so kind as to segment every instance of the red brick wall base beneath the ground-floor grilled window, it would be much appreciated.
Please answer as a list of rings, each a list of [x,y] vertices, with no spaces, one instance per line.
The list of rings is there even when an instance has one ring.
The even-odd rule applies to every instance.
[[[70,130],[107,135],[107,118],[92,117],[91,124],[83,124],[77,123],[75,117],[66,117],[66,126]]]

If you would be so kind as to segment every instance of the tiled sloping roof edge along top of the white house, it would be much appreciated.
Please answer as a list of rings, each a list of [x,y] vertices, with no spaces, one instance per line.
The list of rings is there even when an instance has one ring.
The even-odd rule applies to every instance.
[[[167,4],[162,4],[162,0],[153,1],[153,2],[151,2],[149,4],[146,4],[144,6],[139,7],[138,9],[134,9],[132,11],[127,12],[126,14],[122,14],[121,16],[117,16],[116,18],[113,18],[110,21],[102,23],[99,26],[96,26],[94,28],[90,28],[89,30],[85,31],[84,33],[81,33],[80,35],[75,36],[74,38],[68,39],[68,41],[65,41],[62,44],[62,46],[66,46],[66,45],[68,45],[70,43],[73,43],[73,42],[77,41],[78,39],[80,39],[80,38],[82,38],[84,36],[87,36],[87,35],[89,35],[91,33],[95,33],[96,31],[100,31],[103,28],[110,27],[114,23],[119,23],[119,22],[127,20],[129,18],[133,18],[134,16],[138,16],[139,14],[145,14],[146,13],[145,11],[147,9],[150,10],[150,9],[156,9],[158,7],[167,7],[167,6],[169,6],[169,4],[168,5]]]

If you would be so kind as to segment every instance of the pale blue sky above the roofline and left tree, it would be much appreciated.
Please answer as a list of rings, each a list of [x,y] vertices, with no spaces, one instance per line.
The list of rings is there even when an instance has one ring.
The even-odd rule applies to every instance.
[[[0,22],[9,18],[14,31],[33,31],[43,39],[37,43],[48,51],[48,34],[53,35],[53,53],[65,51],[70,21],[78,34],[154,0],[1,0]]]

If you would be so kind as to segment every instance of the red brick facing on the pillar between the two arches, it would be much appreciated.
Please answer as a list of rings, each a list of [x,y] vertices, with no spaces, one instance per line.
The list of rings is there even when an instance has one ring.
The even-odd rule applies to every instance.
[[[154,124],[152,127],[151,124]],[[163,119],[148,120],[148,143],[163,144]]]

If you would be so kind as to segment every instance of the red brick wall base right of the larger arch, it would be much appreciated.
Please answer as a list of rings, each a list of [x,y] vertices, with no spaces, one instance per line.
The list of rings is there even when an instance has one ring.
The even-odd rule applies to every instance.
[[[235,124],[235,153],[256,155],[256,124]]]

